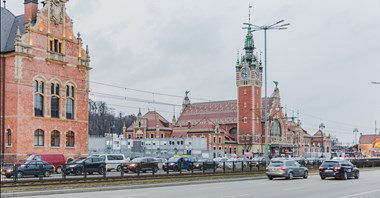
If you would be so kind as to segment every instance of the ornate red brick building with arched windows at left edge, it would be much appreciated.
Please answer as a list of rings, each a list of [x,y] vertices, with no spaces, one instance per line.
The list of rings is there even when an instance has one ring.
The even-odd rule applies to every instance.
[[[1,8],[1,148],[8,161],[87,154],[90,57],[66,3],[25,0],[20,16]]]

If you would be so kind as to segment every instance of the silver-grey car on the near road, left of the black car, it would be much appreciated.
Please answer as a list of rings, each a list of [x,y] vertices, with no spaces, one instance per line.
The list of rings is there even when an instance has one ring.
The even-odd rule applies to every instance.
[[[276,177],[284,177],[286,179],[293,179],[294,177],[308,178],[309,170],[301,166],[295,160],[283,159],[272,160],[269,166],[266,168],[265,174],[269,180]]]

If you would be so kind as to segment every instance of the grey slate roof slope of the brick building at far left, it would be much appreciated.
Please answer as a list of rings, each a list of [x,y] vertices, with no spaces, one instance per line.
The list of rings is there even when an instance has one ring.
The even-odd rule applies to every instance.
[[[20,33],[25,32],[24,15],[15,16],[6,8],[1,7],[1,46],[0,53],[12,52],[15,50],[15,38],[17,28]]]

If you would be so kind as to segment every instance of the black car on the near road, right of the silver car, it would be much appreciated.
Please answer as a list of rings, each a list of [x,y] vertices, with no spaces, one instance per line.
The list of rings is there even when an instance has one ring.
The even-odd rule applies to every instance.
[[[321,179],[326,179],[326,177],[343,180],[350,177],[359,179],[359,168],[344,159],[326,160],[319,167],[319,176]]]

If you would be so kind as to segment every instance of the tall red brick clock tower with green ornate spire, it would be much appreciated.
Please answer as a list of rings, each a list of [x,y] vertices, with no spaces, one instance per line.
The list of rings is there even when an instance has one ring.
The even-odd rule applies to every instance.
[[[238,154],[246,152],[258,152],[261,148],[261,86],[262,86],[262,63],[254,54],[255,46],[253,30],[250,23],[243,29],[247,29],[244,42],[245,54],[236,62],[236,85],[237,85],[237,143]]]

